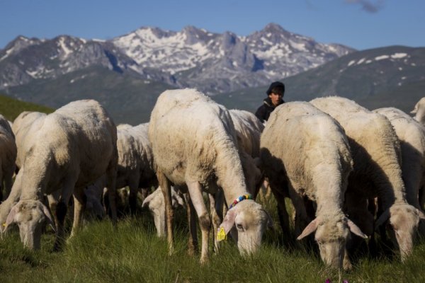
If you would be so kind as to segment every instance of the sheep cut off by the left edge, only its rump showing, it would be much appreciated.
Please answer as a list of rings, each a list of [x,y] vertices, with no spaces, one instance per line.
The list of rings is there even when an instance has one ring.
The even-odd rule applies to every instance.
[[[15,136],[11,126],[8,120],[0,114],[0,202],[11,192],[16,151]]]

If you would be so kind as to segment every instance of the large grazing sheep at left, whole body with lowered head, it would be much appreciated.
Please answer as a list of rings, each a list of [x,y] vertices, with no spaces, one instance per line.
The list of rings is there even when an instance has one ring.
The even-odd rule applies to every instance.
[[[64,236],[64,217],[74,196],[74,223],[71,236],[80,226],[84,187],[106,173],[108,194],[116,224],[115,176],[118,161],[116,127],[106,110],[95,100],[77,100],[47,115],[23,159],[11,195],[0,204],[0,221],[6,231],[18,224],[21,241],[28,248],[40,248],[42,224],[52,224],[52,216],[42,204],[44,195],[60,192],[56,207],[54,249]]]

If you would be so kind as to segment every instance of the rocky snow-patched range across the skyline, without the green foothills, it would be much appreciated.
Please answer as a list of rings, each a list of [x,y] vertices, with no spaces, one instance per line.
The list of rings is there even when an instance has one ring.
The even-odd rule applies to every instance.
[[[19,36],[0,50],[0,90],[100,65],[123,75],[215,94],[262,86],[352,51],[273,23],[246,37],[193,26],[179,32],[144,27],[112,40]]]

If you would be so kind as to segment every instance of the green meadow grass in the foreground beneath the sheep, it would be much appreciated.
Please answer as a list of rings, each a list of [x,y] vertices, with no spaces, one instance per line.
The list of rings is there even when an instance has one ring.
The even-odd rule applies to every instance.
[[[274,219],[273,200],[264,204]],[[17,231],[0,241],[2,282],[425,282],[425,241],[420,241],[407,262],[366,255],[353,260],[353,270],[325,267],[316,253],[300,243],[285,245],[278,221],[266,231],[263,245],[250,257],[239,255],[232,241],[200,265],[199,256],[187,255],[185,212],[176,213],[176,252],[168,255],[166,240],[157,238],[148,212],[88,224],[70,239],[64,250],[53,253],[52,232],[42,236],[41,250],[23,248]]]

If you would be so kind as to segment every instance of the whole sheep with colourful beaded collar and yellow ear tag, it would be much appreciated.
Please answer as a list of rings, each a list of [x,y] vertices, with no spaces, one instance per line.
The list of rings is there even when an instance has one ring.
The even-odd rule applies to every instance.
[[[200,262],[208,260],[210,232],[202,190],[217,186],[222,187],[229,206],[237,203],[230,206],[220,225],[220,235],[236,224],[239,251],[254,253],[271,219],[260,204],[249,200],[229,111],[194,89],[164,91],[151,113],[149,140],[164,194],[169,253],[174,251],[171,183],[187,185],[198,214],[202,232]],[[243,201],[239,202],[239,197]]]

